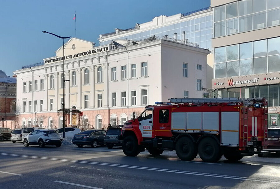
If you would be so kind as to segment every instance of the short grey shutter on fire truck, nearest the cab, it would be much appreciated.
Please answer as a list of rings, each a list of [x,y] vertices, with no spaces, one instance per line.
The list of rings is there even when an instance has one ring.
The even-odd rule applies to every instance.
[[[186,112],[172,112],[172,132],[184,132],[186,130]]]

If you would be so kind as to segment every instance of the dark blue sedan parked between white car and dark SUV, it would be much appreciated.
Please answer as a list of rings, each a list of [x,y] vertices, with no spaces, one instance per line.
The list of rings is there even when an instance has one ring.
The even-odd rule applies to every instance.
[[[91,147],[96,147],[97,145],[103,146],[105,134],[105,130],[86,130],[79,134],[75,134],[72,138],[72,143],[77,144],[80,148],[82,148],[84,145]]]

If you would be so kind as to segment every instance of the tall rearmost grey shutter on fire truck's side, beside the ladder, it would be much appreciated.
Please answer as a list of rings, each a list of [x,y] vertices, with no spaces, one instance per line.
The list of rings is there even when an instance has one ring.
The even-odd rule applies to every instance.
[[[221,146],[239,146],[239,112],[222,112]]]

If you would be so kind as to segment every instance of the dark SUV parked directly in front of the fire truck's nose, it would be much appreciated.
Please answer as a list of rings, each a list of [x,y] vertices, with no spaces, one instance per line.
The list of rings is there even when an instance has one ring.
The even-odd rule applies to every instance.
[[[122,146],[122,127],[111,127],[106,131],[104,143],[108,149],[112,149],[113,146]]]

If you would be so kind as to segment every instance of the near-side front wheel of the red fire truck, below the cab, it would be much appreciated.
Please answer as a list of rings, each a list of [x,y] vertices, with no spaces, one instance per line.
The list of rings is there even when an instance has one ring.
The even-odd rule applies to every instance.
[[[127,156],[137,156],[140,153],[138,149],[138,142],[135,137],[127,136],[124,138],[123,152]]]

